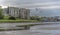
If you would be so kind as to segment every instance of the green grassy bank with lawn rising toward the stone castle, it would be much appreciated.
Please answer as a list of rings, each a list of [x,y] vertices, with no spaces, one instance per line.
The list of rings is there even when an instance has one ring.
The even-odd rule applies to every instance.
[[[19,22],[38,22],[37,20],[26,20],[26,19],[19,19],[16,20],[9,20],[9,16],[4,16],[3,19],[0,19],[0,23],[19,23]]]

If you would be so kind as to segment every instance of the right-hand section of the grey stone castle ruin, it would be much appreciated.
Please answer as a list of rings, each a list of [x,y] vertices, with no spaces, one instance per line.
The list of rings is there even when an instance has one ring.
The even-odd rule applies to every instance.
[[[25,8],[20,8],[19,16],[20,18],[30,19],[30,10]]]

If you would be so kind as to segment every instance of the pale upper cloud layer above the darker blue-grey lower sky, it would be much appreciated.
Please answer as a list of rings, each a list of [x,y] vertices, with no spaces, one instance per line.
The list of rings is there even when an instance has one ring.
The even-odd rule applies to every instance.
[[[0,0],[0,5],[24,8],[60,8],[60,0]]]

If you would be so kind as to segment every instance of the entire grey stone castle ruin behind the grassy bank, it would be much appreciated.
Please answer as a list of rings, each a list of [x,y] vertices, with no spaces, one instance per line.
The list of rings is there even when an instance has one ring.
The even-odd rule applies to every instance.
[[[22,19],[30,19],[30,10],[26,8],[8,7],[3,9],[3,14]]]

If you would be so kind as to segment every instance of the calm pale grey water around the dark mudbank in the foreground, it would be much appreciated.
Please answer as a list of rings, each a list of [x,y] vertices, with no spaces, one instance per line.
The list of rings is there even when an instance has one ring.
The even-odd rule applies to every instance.
[[[11,24],[0,24],[0,26],[14,27]],[[1,31],[0,35],[60,35],[60,23],[50,25],[38,25],[30,27],[30,30],[19,30],[19,31]]]

